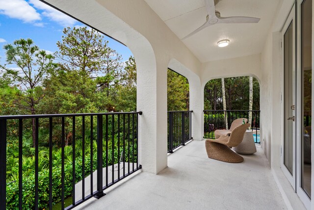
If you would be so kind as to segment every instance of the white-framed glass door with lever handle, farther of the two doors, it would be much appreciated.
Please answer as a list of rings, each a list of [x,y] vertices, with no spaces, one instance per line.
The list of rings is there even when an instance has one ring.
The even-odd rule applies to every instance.
[[[282,30],[284,67],[284,142],[282,169],[295,189],[295,140],[296,140],[296,43],[295,6]]]

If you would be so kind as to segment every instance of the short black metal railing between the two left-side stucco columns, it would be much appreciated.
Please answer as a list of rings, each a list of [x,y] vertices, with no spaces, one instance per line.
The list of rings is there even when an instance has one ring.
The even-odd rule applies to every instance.
[[[192,112],[193,111],[169,111],[168,112],[168,152],[184,146],[192,140]]]

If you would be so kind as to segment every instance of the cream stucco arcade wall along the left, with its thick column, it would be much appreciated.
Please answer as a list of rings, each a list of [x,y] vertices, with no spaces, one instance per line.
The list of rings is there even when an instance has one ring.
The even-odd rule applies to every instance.
[[[139,161],[144,171],[152,173],[167,167],[167,68],[175,59],[185,67],[183,71],[193,73],[193,77],[187,77],[195,90],[191,92],[195,99],[191,108],[200,118],[202,106],[196,104],[199,88],[193,88],[199,85],[200,61],[144,0],[47,2],[130,48],[137,66],[137,110],[143,112],[139,120]],[[201,129],[194,127],[192,132],[200,138]]]

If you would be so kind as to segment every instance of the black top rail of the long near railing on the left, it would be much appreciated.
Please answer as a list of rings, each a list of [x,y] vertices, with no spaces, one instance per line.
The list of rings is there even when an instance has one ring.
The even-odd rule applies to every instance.
[[[106,113],[79,113],[79,114],[49,114],[49,115],[7,115],[0,116],[0,120],[19,120],[32,118],[61,118],[61,117],[82,117],[82,116],[98,116],[98,115],[125,115],[125,114],[139,114],[142,112],[106,112]]]

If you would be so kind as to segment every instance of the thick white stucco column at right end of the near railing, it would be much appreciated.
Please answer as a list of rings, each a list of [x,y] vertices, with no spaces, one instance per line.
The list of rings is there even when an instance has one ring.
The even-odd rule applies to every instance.
[[[167,64],[148,65],[143,55],[136,60],[139,163],[157,174],[167,167]]]

